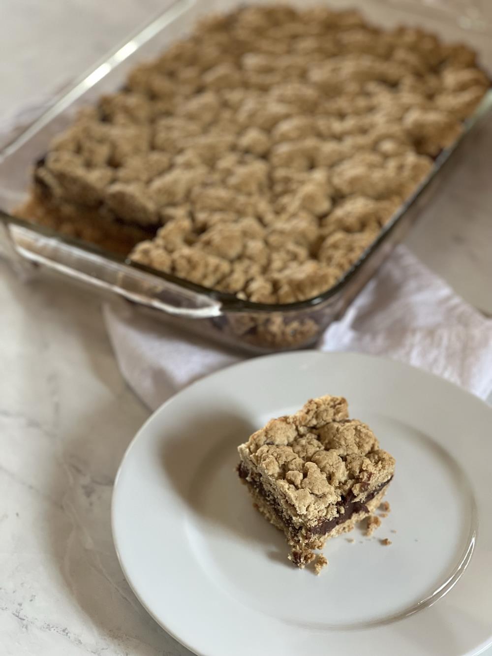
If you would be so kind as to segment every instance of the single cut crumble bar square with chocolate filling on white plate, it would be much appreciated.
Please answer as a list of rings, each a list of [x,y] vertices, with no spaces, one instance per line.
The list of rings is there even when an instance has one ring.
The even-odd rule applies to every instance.
[[[311,399],[294,415],[270,420],[238,451],[239,477],[255,508],[285,533],[298,567],[375,511],[395,466],[369,426],[348,418],[339,396]]]

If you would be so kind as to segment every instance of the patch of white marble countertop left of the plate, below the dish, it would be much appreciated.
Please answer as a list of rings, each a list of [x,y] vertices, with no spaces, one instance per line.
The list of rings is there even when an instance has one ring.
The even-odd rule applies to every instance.
[[[121,379],[100,300],[0,263],[0,653],[182,655],[114,552],[113,480],[148,410]]]

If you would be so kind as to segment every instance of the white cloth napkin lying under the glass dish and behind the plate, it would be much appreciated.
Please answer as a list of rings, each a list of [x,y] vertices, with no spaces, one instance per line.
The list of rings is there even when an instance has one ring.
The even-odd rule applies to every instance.
[[[121,373],[152,409],[193,380],[245,359],[126,303],[105,304]],[[405,361],[487,398],[492,392],[492,319],[457,297],[403,246],[319,340],[321,351],[361,351]]]

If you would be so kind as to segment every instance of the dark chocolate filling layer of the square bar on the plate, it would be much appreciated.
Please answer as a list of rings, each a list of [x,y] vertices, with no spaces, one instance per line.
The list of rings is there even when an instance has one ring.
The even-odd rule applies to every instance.
[[[239,474],[240,478],[246,479],[249,472],[247,468],[245,467],[244,463],[241,462],[239,463],[239,466],[237,467],[237,473]],[[314,527],[309,527],[308,532],[310,535],[326,535],[330,531],[333,531],[333,529],[338,526],[338,524],[341,524],[343,522],[347,522],[350,520],[352,515],[357,512],[369,512],[367,506],[365,505],[368,501],[371,501],[371,499],[374,499],[374,497],[382,490],[383,487],[388,485],[390,481],[392,480],[392,476],[388,478],[387,481],[384,481],[378,487],[374,490],[372,490],[364,499],[364,501],[354,501],[354,493],[352,493],[352,490],[346,495],[346,497],[342,497],[340,499],[341,504],[344,507],[345,512],[340,513],[337,517],[334,517],[332,520],[320,520],[318,524]],[[275,501],[275,499],[272,499],[271,495],[268,494],[268,492],[264,489],[262,484],[258,482],[257,480],[249,480],[247,483],[254,487],[264,499],[268,502],[268,504],[272,507],[272,510],[276,513],[276,515],[284,522],[289,529],[291,530],[292,533],[298,533],[302,527],[296,527],[292,520],[289,518],[285,518],[283,513],[281,512],[281,508],[279,504]],[[306,537],[310,537],[308,534]]]

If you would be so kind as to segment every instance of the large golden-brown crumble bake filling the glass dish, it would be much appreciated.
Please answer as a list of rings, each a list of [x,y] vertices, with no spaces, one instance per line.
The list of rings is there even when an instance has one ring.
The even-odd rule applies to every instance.
[[[88,211],[137,230],[135,262],[304,300],[358,260],[488,86],[470,49],[358,12],[210,16],[52,142],[37,199],[72,208],[68,234],[102,238]]]

